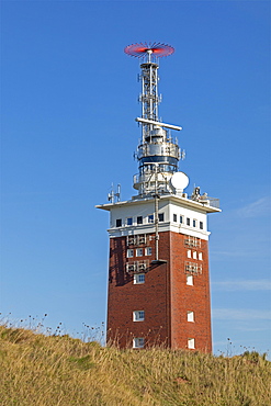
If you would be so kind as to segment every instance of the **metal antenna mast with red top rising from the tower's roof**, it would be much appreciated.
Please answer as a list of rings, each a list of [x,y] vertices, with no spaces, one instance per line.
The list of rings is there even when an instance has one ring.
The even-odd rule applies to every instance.
[[[140,43],[126,46],[124,52],[142,60],[142,117],[136,119],[142,124],[142,142],[137,147],[139,174],[134,177],[134,189],[138,190],[138,199],[154,193],[174,193],[169,180],[178,171],[181,153],[168,128],[182,128],[162,123],[158,114],[161,101],[158,94],[158,58],[173,54],[174,48],[161,43]]]

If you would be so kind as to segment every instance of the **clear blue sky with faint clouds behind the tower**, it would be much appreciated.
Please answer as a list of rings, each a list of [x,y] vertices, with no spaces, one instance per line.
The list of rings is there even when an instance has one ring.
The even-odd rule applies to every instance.
[[[47,314],[75,336],[105,322],[109,218],[94,205],[112,182],[135,194],[139,64],[123,49],[145,41],[176,48],[160,63],[159,113],[183,127],[188,191],[221,199],[215,353],[227,338],[235,353],[268,351],[269,1],[1,2],[2,318]]]

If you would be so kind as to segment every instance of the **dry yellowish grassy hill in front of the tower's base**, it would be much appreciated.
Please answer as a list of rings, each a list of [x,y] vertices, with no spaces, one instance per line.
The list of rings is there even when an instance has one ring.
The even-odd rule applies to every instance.
[[[269,406],[270,384],[257,352],[118,350],[0,326],[1,406]]]

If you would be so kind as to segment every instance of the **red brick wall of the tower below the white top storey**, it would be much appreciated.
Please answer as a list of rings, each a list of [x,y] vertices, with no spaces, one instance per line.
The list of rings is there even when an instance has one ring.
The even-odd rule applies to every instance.
[[[149,237],[149,235],[148,235]],[[153,236],[154,237],[154,236]],[[210,320],[210,285],[207,241],[201,240],[203,259],[188,259],[181,234],[159,234],[159,259],[166,263],[151,264],[155,259],[155,239],[147,238],[145,246],[127,246],[126,237],[110,239],[110,271],[108,301],[108,341],[131,347],[133,337],[144,337],[146,347],[166,345],[187,348],[188,338],[195,339],[195,349],[212,350]],[[153,255],[126,258],[127,248],[151,247]],[[134,252],[135,253],[135,252]],[[144,284],[134,284],[126,262],[148,260]],[[194,285],[187,285],[185,261],[202,264],[202,274],[194,275]],[[145,311],[144,322],[133,322],[134,311]],[[193,311],[195,322],[187,320]]]

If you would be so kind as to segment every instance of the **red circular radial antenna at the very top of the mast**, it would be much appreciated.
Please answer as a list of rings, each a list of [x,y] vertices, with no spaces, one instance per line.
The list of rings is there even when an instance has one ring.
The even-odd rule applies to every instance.
[[[128,54],[131,56],[134,56],[136,58],[143,58],[148,54],[148,52],[151,52],[155,56],[162,57],[173,54],[174,48],[167,44],[161,43],[154,43],[154,44],[147,44],[147,43],[138,43],[138,44],[132,44],[124,48],[125,54]]]

